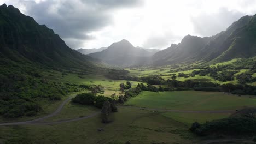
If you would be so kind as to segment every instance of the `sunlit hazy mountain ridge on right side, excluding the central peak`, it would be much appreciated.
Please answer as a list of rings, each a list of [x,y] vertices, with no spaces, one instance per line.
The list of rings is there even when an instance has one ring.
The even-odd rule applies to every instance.
[[[155,53],[154,65],[229,61],[234,58],[249,58],[256,55],[255,17],[244,16],[232,23],[226,31],[212,37],[186,36],[178,45]]]

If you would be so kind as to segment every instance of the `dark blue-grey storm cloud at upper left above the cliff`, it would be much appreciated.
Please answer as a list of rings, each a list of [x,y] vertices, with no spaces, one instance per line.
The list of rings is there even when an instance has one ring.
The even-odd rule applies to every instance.
[[[140,0],[20,2],[24,3],[28,15],[34,17],[38,23],[54,29],[73,48],[81,46],[84,40],[94,39],[88,33],[110,25],[112,10],[142,4]]]

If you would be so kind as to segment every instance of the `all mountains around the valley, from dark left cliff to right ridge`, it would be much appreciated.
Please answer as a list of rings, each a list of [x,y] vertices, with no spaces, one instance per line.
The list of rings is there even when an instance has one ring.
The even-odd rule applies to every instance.
[[[129,67],[222,62],[256,56],[256,15],[243,16],[226,31],[212,37],[187,35],[181,43],[172,44],[164,50],[134,47],[125,39],[100,49],[72,50],[52,29],[39,25],[32,17],[5,4],[0,6],[0,29],[2,63],[13,61],[90,70],[95,69],[95,65],[101,64],[101,61]]]

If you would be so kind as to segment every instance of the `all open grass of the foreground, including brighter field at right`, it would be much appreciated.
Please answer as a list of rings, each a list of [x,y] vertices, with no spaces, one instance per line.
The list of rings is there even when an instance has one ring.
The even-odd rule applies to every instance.
[[[237,109],[256,107],[255,101],[255,97],[220,92],[142,92],[126,106],[118,106],[112,123],[103,124],[100,115],[94,115],[100,109],[67,100],[56,115],[35,123],[1,126],[0,135],[5,143],[201,143],[188,130],[192,122],[228,117]],[[59,123],[70,119],[79,121]]]

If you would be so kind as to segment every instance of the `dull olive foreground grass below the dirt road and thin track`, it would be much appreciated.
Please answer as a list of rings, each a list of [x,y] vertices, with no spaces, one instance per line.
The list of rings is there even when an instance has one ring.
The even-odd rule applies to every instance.
[[[85,106],[83,110],[87,108]],[[80,107],[73,110],[75,109],[80,109]],[[90,109],[88,108],[89,111]],[[67,115],[73,114],[67,113]],[[131,143],[191,143],[197,141],[195,136],[188,131],[187,125],[167,118],[161,113],[121,107],[118,113],[112,115],[112,119],[114,121],[109,124],[101,123],[100,116],[96,116],[71,123],[1,127],[0,135],[8,137],[9,143],[25,141],[26,143],[121,144],[127,141]],[[97,131],[98,128],[103,128],[104,131]]]

